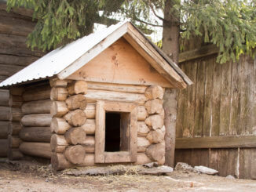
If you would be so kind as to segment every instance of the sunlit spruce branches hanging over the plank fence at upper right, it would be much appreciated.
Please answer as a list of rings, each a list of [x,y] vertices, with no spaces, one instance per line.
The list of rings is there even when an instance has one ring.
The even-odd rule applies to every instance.
[[[255,56],[255,1],[185,0],[177,7],[182,10],[181,23],[186,29],[181,36],[189,38],[193,33],[217,45],[218,62],[238,60],[241,54]]]

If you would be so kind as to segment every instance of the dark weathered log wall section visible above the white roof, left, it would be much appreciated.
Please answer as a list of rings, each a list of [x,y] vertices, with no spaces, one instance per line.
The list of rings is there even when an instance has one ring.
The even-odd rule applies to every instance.
[[[27,9],[7,13],[5,3],[0,3],[0,82],[38,60],[42,53],[27,48],[27,35],[35,22],[27,15]],[[31,14],[31,13],[30,13]],[[1,103],[1,100],[0,100]],[[0,104],[2,105],[2,104]]]

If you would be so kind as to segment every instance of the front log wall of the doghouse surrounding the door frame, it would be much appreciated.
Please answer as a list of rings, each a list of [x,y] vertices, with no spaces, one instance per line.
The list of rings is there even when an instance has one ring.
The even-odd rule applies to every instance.
[[[94,165],[96,101],[137,103],[137,162],[164,163],[163,92],[155,86],[113,85],[53,79],[53,168]],[[141,99],[142,98],[142,99]],[[79,155],[77,155],[79,154]]]

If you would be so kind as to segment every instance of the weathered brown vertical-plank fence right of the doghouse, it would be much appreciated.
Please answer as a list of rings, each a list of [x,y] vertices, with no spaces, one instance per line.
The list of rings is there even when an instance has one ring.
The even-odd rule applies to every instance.
[[[177,96],[175,162],[256,179],[256,60],[219,64],[213,55],[181,69],[194,84]]]

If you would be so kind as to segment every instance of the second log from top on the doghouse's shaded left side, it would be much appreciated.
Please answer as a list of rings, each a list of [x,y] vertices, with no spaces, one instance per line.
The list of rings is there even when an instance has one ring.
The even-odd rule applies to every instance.
[[[21,111],[23,114],[49,114],[53,101],[36,100],[23,103]]]

